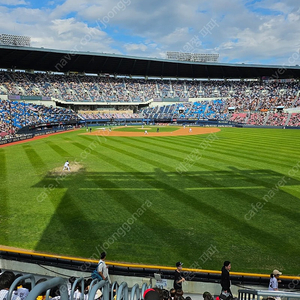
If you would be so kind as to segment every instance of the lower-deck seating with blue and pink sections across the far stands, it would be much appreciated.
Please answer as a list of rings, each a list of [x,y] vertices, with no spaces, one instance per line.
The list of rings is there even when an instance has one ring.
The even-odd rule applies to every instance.
[[[18,101],[0,101],[0,138],[12,137],[24,126],[57,122],[64,124],[70,120],[110,120],[110,119],[151,119],[151,120],[219,120],[243,123],[253,126],[300,127],[300,113],[282,111],[260,111],[230,113],[224,100],[196,101],[165,106],[148,107],[140,113],[89,112],[76,114],[65,108],[53,108]]]

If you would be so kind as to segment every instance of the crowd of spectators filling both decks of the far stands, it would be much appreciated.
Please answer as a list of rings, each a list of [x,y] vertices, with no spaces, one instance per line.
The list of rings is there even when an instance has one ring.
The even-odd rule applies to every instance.
[[[67,102],[126,102],[129,105],[150,100],[176,99],[177,104],[146,108],[145,118],[216,119],[250,125],[288,126],[298,124],[298,116],[279,109],[300,106],[300,83],[286,81],[175,80],[113,76],[60,75],[49,72],[0,72],[0,94],[44,96]],[[188,99],[197,98],[194,102]],[[202,98],[201,101],[199,98]],[[176,102],[176,101],[173,101]],[[4,108],[3,108],[4,107]],[[0,129],[12,133],[16,127],[48,120],[49,114],[35,113],[25,104],[11,102],[0,106]],[[57,114],[57,112],[54,112]],[[20,115],[18,118],[17,115]],[[82,114],[83,119],[140,118],[141,114]]]

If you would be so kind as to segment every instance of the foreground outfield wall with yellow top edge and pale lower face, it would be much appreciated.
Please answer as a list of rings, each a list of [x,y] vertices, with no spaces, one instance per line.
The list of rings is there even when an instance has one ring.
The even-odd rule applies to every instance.
[[[91,276],[91,272],[97,267],[98,261],[67,256],[55,256],[51,254],[35,253],[26,250],[9,250],[0,247],[0,268],[12,270],[16,273],[29,273],[40,277],[85,277]],[[138,265],[130,263],[116,263],[106,261],[109,266],[109,274],[112,282],[119,284],[123,281],[129,287],[138,283],[147,285],[158,284],[166,289],[173,287],[175,267]],[[154,274],[161,275],[162,281],[157,282]],[[212,294],[220,294],[221,272],[202,269],[182,269],[183,276],[187,279],[183,285],[186,293],[202,294],[209,290]],[[237,295],[238,289],[244,287],[267,288],[270,280],[268,274],[230,272],[232,292]],[[280,276],[283,289],[300,289],[299,276]],[[293,287],[291,287],[291,285]]]

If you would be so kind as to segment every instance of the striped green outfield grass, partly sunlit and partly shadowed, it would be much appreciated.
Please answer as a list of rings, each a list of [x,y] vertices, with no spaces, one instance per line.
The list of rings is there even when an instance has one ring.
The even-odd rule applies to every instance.
[[[299,130],[222,128],[206,148],[208,135],[84,132],[0,148],[0,244],[299,273]],[[81,168],[61,173],[66,159]]]

